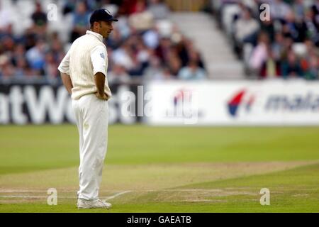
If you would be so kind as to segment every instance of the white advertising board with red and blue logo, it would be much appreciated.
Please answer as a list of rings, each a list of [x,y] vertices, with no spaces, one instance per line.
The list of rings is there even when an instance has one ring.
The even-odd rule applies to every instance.
[[[319,125],[319,82],[151,82],[150,125]]]

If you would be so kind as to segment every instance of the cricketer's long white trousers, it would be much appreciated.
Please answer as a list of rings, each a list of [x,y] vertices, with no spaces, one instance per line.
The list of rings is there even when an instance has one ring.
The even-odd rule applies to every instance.
[[[79,130],[79,199],[98,199],[108,136],[108,101],[87,94],[72,99]]]

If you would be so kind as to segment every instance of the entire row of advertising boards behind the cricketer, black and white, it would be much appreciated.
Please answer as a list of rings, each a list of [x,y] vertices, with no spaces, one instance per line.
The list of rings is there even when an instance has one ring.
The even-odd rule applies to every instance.
[[[114,85],[109,123],[318,126],[319,82],[151,82]],[[0,125],[74,122],[62,86],[0,84]]]

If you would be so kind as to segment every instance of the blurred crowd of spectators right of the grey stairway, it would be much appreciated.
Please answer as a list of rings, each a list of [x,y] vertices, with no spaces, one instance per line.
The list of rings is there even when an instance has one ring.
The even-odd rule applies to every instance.
[[[269,21],[259,17],[264,3]],[[247,74],[318,79],[318,0],[225,0],[216,15]]]

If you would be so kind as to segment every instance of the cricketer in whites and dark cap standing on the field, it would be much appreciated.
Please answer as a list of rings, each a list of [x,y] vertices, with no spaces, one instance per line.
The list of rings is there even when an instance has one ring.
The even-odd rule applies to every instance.
[[[58,69],[67,92],[79,131],[78,209],[111,208],[99,199],[104,158],[107,148],[108,55],[103,38],[113,30],[113,18],[106,9],[91,14],[90,31],[74,40]]]

